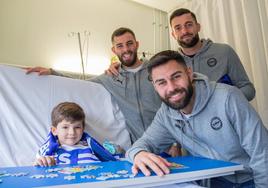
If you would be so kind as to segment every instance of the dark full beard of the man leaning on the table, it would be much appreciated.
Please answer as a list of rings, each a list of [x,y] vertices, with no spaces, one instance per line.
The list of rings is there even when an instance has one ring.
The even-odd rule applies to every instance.
[[[176,95],[177,93],[181,93],[181,94],[184,93],[184,97],[176,102],[169,101],[169,98],[172,97],[173,95]],[[189,79],[189,84],[187,88],[176,88],[173,91],[169,92],[164,98],[161,97],[161,99],[170,108],[174,110],[181,110],[190,103],[192,96],[193,96],[193,86],[190,83],[190,79]]]

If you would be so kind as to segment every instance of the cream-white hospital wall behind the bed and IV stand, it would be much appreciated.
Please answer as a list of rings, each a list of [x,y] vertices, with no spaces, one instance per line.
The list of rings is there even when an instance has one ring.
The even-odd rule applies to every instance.
[[[169,46],[167,14],[132,1],[0,0],[0,63],[81,71],[77,35],[68,34],[81,32],[83,43],[87,30],[86,72],[100,74],[112,56],[110,36],[121,26],[136,33],[140,52]]]

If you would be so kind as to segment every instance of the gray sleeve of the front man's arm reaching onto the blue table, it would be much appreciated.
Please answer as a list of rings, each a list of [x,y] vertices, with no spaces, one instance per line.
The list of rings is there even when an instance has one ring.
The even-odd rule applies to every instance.
[[[159,154],[174,143],[175,139],[165,127],[164,116],[160,109],[143,136],[126,152],[126,157],[130,162],[133,162],[135,155],[140,151]]]

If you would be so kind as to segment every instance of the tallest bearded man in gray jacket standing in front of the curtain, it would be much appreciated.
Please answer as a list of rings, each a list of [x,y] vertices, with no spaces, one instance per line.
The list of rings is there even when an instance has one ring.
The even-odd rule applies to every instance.
[[[235,51],[227,44],[199,38],[201,25],[188,9],[175,10],[170,16],[172,36],[180,45],[179,52],[187,66],[210,80],[234,85],[251,101],[255,88]]]

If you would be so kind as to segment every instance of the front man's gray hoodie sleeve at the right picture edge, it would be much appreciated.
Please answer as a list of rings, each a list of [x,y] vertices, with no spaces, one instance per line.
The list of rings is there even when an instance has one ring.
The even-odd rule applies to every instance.
[[[256,187],[268,187],[268,132],[259,115],[236,88],[226,102],[229,120],[239,137],[241,147],[250,156]]]

